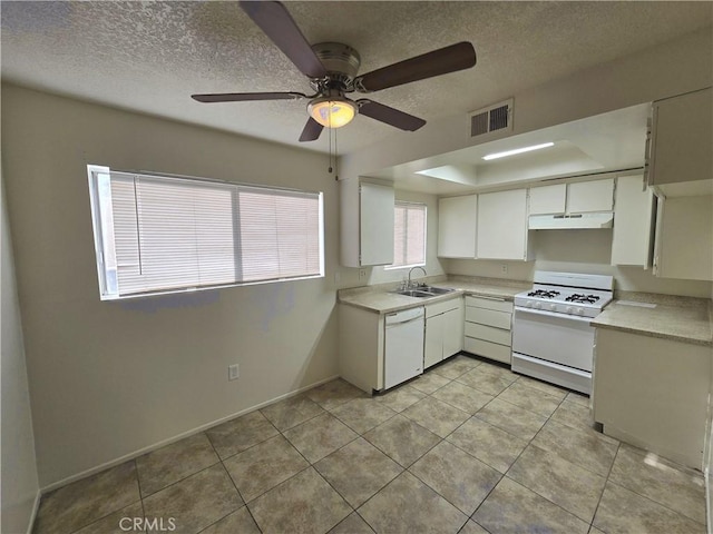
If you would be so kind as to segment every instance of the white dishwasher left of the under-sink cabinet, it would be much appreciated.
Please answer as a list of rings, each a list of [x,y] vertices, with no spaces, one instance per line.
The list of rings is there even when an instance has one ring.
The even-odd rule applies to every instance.
[[[424,317],[422,306],[387,315],[383,355],[384,389],[423,373]]]

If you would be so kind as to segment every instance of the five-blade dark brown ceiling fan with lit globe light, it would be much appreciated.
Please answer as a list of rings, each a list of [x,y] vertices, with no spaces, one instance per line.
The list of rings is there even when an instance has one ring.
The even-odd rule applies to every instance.
[[[320,137],[323,128],[344,126],[356,113],[402,130],[418,130],[426,125],[423,119],[367,98],[351,100],[345,95],[354,91],[379,91],[469,69],[476,65],[476,50],[470,42],[463,41],[356,76],[361,63],[356,50],[340,42],[311,46],[281,2],[243,0],[240,6],[310,79],[310,86],[315,93],[307,96],[295,91],[223,92],[192,95],[192,98],[198,102],[309,99],[310,118],[302,130],[300,141],[313,141]]]

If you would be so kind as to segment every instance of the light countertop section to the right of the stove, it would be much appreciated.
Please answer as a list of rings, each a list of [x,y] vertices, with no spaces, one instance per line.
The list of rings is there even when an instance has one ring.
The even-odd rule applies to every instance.
[[[711,300],[705,298],[623,295],[592,326],[713,347]]]

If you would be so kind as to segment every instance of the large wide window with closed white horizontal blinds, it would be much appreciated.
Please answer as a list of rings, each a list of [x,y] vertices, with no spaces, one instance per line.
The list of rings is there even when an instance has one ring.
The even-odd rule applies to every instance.
[[[102,299],[324,275],[321,192],[88,172]]]

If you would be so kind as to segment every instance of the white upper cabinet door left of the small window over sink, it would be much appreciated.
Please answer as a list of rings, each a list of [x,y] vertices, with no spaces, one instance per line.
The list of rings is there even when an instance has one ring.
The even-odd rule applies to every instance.
[[[360,265],[393,263],[393,188],[362,182],[359,192]]]

